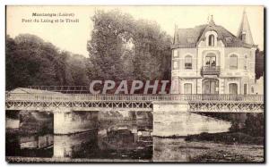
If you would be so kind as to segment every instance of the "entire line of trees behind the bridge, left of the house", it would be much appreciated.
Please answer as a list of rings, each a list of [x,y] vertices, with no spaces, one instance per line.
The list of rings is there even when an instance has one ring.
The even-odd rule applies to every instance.
[[[170,79],[171,38],[153,21],[98,11],[89,58],[30,34],[6,37],[6,89],[88,85],[92,79]]]

